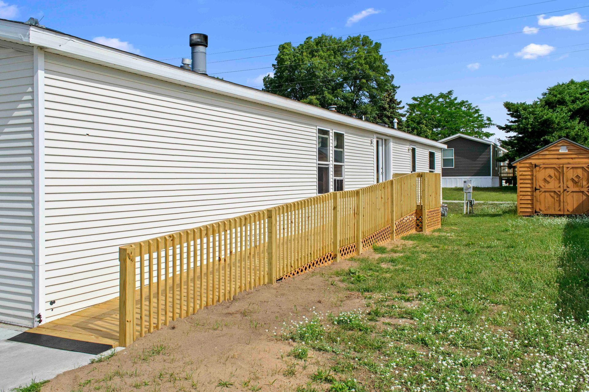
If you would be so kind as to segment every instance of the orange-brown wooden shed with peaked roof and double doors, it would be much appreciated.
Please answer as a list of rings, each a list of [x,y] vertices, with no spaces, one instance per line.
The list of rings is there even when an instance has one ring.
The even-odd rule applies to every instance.
[[[518,215],[589,213],[589,148],[562,138],[512,165]]]

